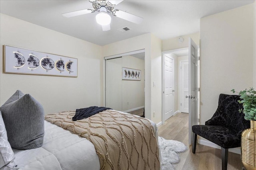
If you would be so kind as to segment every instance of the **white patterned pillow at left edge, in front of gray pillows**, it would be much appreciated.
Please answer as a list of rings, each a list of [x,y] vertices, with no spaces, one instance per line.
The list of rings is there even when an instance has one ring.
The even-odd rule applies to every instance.
[[[0,168],[13,169],[16,166],[14,158],[14,153],[10,143],[8,142],[4,120],[0,111]]]

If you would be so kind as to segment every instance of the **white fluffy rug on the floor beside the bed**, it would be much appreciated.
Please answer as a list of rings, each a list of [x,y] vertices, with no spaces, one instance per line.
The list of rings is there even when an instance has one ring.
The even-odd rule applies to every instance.
[[[158,143],[162,156],[162,170],[176,170],[172,164],[180,162],[178,153],[185,152],[188,147],[179,141],[166,140],[158,137]]]

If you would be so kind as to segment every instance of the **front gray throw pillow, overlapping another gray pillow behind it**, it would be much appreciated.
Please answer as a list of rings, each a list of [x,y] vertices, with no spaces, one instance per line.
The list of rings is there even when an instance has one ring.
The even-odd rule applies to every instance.
[[[16,149],[41,147],[44,140],[44,109],[30,94],[0,107],[8,141]]]

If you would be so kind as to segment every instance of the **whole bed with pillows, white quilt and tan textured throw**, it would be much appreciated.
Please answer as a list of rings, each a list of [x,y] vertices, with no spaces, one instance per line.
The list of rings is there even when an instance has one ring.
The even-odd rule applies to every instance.
[[[38,101],[17,90],[0,107],[0,170],[161,168],[154,122],[110,108],[76,117],[78,110],[44,115]]]

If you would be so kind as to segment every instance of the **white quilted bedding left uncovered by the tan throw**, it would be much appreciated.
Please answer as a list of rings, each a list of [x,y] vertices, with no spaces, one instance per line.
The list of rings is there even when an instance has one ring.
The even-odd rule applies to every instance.
[[[156,124],[150,122],[155,136],[158,137]],[[100,160],[90,141],[46,120],[42,147],[30,150],[13,149],[13,151],[20,170],[100,169]]]

